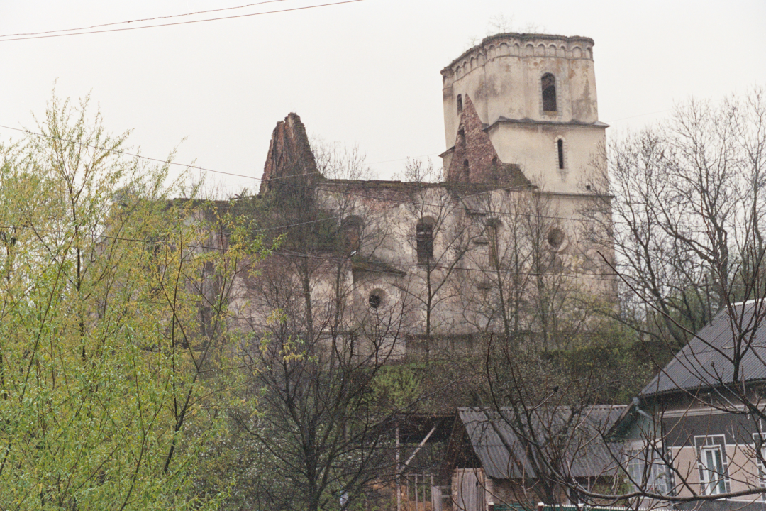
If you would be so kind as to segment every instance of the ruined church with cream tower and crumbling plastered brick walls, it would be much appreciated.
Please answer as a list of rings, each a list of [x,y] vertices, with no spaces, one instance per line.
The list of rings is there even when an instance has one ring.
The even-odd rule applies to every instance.
[[[611,257],[611,244],[594,235],[611,225],[598,177],[607,125],[598,120],[593,46],[497,34],[444,67],[438,183],[331,179],[317,169],[300,118],[277,124],[260,195],[316,193],[342,247],[314,255],[342,265],[345,315],[400,318],[397,355],[548,328],[541,318],[566,315],[575,296],[573,308],[614,302],[601,257]],[[316,275],[317,303],[338,295],[339,280]]]

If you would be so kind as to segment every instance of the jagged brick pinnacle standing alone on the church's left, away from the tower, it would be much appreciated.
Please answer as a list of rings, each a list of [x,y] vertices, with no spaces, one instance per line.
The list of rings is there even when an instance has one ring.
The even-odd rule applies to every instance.
[[[319,177],[321,175],[316,169],[306,127],[300,122],[297,113],[289,113],[271,133],[260,193],[281,188],[287,191],[288,187],[311,187]]]

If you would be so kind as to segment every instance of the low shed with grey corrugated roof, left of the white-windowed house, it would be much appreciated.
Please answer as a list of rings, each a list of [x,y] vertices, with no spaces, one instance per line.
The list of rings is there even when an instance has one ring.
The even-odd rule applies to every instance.
[[[618,480],[620,446],[604,432],[624,406],[458,408],[442,476],[457,509],[484,511],[489,503],[536,506],[577,503],[561,480],[584,487]]]

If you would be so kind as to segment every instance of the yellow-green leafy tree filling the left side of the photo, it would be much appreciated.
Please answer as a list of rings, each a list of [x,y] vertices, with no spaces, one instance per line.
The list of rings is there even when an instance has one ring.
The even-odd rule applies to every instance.
[[[0,167],[0,508],[201,509],[230,287],[259,240],[54,99]],[[209,211],[209,210],[208,210]]]

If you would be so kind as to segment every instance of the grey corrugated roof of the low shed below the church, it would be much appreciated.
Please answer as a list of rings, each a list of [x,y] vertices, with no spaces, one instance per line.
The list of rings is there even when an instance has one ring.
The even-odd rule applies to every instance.
[[[535,477],[529,456],[541,454],[553,459],[559,469],[571,477],[597,477],[615,468],[614,455],[619,447],[608,447],[601,440],[614,421],[620,417],[624,405],[604,405],[573,412],[571,408],[538,409],[532,414],[535,430],[516,428],[525,435],[534,435],[541,450],[529,451],[510,426],[513,412],[510,408],[496,411],[489,408],[458,408],[460,421],[466,427],[471,446],[489,477],[509,479]],[[529,423],[528,423],[529,424]],[[611,449],[611,451],[610,451]]]

